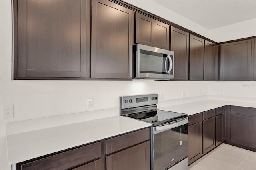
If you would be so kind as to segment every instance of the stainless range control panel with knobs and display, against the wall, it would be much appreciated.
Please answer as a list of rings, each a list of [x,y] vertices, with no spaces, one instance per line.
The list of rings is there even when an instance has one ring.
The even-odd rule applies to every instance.
[[[158,103],[157,94],[120,96],[120,107],[131,108],[138,106],[153,105]]]

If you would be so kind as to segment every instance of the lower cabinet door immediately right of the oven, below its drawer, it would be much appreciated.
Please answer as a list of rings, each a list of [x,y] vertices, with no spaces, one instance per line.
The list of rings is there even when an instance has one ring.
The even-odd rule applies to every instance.
[[[199,122],[188,126],[188,164],[202,155],[202,122]]]

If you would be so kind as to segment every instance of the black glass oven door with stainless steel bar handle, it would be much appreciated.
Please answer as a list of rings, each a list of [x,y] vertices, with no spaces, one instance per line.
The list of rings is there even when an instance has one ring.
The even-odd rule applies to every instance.
[[[188,117],[153,127],[154,170],[165,170],[188,157]],[[188,162],[185,162],[188,167]],[[187,168],[188,169],[188,168]]]

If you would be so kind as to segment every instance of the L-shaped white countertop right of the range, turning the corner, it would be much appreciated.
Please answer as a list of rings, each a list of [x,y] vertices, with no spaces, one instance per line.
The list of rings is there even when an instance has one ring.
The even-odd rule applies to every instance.
[[[200,113],[203,111],[208,111],[208,110],[226,106],[226,105],[256,108],[256,103],[207,99],[207,100],[202,100],[202,101],[184,103],[184,104],[180,104],[180,105],[159,107],[158,109],[172,111],[172,112],[178,112],[178,113],[185,113],[189,116],[189,115],[193,115],[193,114]]]

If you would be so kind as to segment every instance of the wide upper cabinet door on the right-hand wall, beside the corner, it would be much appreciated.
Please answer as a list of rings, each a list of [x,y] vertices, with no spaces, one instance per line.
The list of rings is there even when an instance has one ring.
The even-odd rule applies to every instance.
[[[251,80],[251,43],[244,40],[221,45],[220,80]]]

